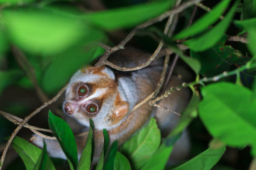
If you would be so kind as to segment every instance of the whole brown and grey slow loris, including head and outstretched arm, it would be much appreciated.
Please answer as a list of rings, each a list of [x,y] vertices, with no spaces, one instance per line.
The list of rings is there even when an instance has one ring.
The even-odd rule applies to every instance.
[[[116,52],[110,61],[123,66],[135,67],[145,62],[150,55],[134,48],[125,52]],[[108,67],[88,67],[79,70],[71,78],[66,90],[64,112],[85,126],[89,126],[90,118],[95,129],[94,162],[100,156],[103,145],[102,129],[108,130],[110,143],[118,140],[121,145],[133,133],[140,129],[152,116],[153,107],[148,102],[131,112],[133,107],[145,99],[156,89],[162,70],[162,60],[155,60],[141,70],[120,72]],[[169,85],[179,85],[181,80],[173,78]],[[189,98],[187,90],[174,92],[162,102],[166,107],[180,112]],[[162,113],[162,114],[161,114]],[[171,130],[173,124],[168,123],[175,117],[172,113],[157,109],[155,117],[164,131]],[[174,118],[177,122],[177,118]],[[78,156],[80,157],[87,136],[77,137]],[[57,140],[45,140],[50,156],[66,159]],[[32,142],[43,146],[43,139],[38,136]]]

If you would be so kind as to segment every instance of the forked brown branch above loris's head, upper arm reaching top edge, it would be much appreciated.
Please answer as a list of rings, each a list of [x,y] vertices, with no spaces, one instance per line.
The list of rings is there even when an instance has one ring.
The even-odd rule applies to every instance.
[[[175,15],[177,13],[182,12],[184,9],[186,9],[187,7],[198,3],[202,0],[190,0],[188,2],[184,2],[182,5],[180,5],[177,8],[174,8],[173,10],[169,10],[166,11],[165,13],[163,13],[162,15],[159,15],[156,18],[153,18],[151,20],[148,20],[146,23],[143,23],[141,25],[138,25],[136,28],[134,28],[118,45],[116,45],[115,47],[110,47],[110,49],[107,49],[105,51],[105,53],[102,55],[102,57],[100,58],[100,60],[95,64],[95,67],[101,67],[102,65],[108,65],[116,70],[122,70],[122,71],[132,71],[132,70],[139,70],[143,67],[148,66],[156,57],[156,55],[159,53],[159,51],[161,50],[161,47],[164,45],[164,43],[161,41],[158,45],[158,47],[156,48],[155,52],[153,53],[153,55],[151,55],[151,57],[148,59],[148,61],[146,61],[145,63],[138,65],[137,67],[120,67],[118,65],[113,64],[112,62],[108,61],[108,57],[110,56],[111,53],[123,49],[125,44],[131,40],[131,38],[136,34],[137,30],[142,29],[142,28],[146,28],[150,25],[153,25],[154,23],[158,23],[161,22],[162,20],[164,20],[165,18],[171,16],[171,15]],[[166,27],[168,27],[168,25],[166,25]],[[169,29],[169,28],[168,28]]]

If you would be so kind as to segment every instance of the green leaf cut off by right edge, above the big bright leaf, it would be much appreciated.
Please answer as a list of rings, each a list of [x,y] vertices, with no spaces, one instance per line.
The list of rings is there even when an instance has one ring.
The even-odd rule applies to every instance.
[[[248,41],[249,43],[247,44],[249,50],[251,53],[254,55],[254,58],[256,57],[256,18],[248,19],[248,20],[243,20],[243,21],[235,21],[235,24],[238,27],[243,27],[248,31]]]

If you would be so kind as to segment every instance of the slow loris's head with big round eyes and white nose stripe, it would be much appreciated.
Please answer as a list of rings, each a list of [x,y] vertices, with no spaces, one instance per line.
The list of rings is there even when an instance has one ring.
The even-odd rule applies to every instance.
[[[83,125],[88,126],[91,118],[95,128],[109,129],[125,118],[129,104],[113,71],[102,66],[84,68],[73,75],[63,108]]]

